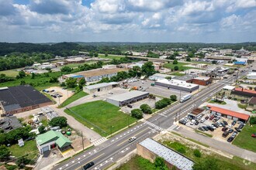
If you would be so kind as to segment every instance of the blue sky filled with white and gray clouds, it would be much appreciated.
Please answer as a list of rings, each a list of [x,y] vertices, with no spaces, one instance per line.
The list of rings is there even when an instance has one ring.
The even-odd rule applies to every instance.
[[[256,0],[0,0],[0,42],[256,42]]]

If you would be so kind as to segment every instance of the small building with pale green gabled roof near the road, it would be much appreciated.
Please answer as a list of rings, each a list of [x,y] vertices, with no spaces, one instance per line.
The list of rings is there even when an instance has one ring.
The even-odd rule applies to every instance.
[[[36,147],[43,154],[44,151],[50,151],[52,148],[59,148],[61,151],[71,147],[71,141],[64,137],[60,131],[47,131],[36,137]]]

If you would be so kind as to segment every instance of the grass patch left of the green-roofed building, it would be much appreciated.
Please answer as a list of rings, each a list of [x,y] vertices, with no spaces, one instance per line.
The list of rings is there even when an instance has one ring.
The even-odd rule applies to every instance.
[[[19,147],[18,144],[12,145],[9,150],[16,158],[23,155],[28,155],[27,158],[33,159],[36,158],[36,155],[38,154],[38,149],[36,148],[36,140],[26,141],[25,145],[22,147]]]

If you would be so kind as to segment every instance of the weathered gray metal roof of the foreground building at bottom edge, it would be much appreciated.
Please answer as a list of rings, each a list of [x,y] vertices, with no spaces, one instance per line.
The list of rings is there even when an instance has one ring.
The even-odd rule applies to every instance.
[[[180,155],[178,152],[161,145],[151,138],[146,138],[144,141],[141,141],[140,145],[144,146],[144,148],[147,148],[161,158],[164,158],[166,162],[169,162],[171,165],[175,165],[178,169],[191,170],[194,165],[194,162],[189,158]]]

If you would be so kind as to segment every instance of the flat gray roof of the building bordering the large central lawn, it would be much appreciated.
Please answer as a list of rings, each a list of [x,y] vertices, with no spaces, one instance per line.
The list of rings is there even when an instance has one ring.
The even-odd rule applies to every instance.
[[[134,97],[140,97],[141,95],[144,95],[144,94],[149,94],[149,93],[144,91],[132,90],[127,93],[120,93],[120,94],[117,94],[116,96],[108,97],[108,99],[116,100],[116,101],[126,101]]]

